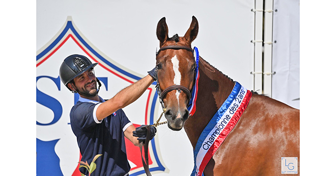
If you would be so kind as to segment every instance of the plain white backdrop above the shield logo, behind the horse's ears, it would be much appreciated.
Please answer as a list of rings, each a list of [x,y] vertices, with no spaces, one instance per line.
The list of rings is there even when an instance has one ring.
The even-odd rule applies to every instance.
[[[155,66],[156,25],[166,17],[169,36],[183,36],[191,16],[200,30],[192,43],[210,64],[253,88],[254,8],[251,1],[37,1],[37,50],[63,26],[67,16],[102,53],[145,75]],[[242,52],[243,51],[243,52]],[[244,62],[246,64],[241,65]]]

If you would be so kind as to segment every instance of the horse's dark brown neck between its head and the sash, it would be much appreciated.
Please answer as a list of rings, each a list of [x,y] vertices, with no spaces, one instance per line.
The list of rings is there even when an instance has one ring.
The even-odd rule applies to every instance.
[[[195,147],[202,131],[230,95],[235,83],[200,58],[199,62],[199,90],[196,112],[189,117],[184,129],[193,147]]]

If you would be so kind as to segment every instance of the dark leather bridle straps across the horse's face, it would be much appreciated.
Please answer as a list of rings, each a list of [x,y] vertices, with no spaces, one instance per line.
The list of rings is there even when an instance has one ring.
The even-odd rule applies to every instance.
[[[192,55],[193,55],[193,49],[190,48],[190,47],[186,47],[186,46],[176,46],[176,45],[172,45],[172,46],[164,46],[164,47],[161,47],[159,49],[158,52],[156,52],[156,57],[157,55],[165,50],[165,49],[185,49],[189,52],[192,52]],[[165,88],[162,92],[161,92],[161,88],[160,88],[160,84],[159,84],[159,79],[158,79],[158,76],[157,76],[157,72],[156,72],[156,92],[157,94],[159,95],[159,100],[160,100],[160,104],[162,106],[162,109],[164,109],[164,104],[163,104],[163,97],[170,91],[172,90],[177,90],[178,92],[181,92],[181,90],[187,94],[187,98],[188,98],[188,103],[187,105],[189,104],[189,101],[191,99],[191,92],[188,88],[184,87],[184,86],[181,86],[181,85],[173,85],[173,86],[169,86],[167,88]]]

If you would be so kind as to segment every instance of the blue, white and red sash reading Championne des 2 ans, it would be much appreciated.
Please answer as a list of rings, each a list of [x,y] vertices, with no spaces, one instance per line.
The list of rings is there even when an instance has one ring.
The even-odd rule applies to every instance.
[[[230,134],[246,109],[252,93],[238,82],[201,133],[195,146],[192,176],[203,174],[205,166]]]

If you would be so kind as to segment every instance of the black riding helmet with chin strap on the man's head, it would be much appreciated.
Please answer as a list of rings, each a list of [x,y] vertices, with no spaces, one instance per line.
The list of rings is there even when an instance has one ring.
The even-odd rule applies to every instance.
[[[89,69],[93,69],[98,63],[92,63],[87,57],[83,55],[71,55],[64,59],[60,67],[60,77],[63,84],[72,91],[67,84],[74,78],[78,77],[81,73],[86,72]],[[97,82],[99,88],[101,86],[98,78]],[[99,91],[98,88],[98,91]],[[97,91],[97,93],[98,93]]]

